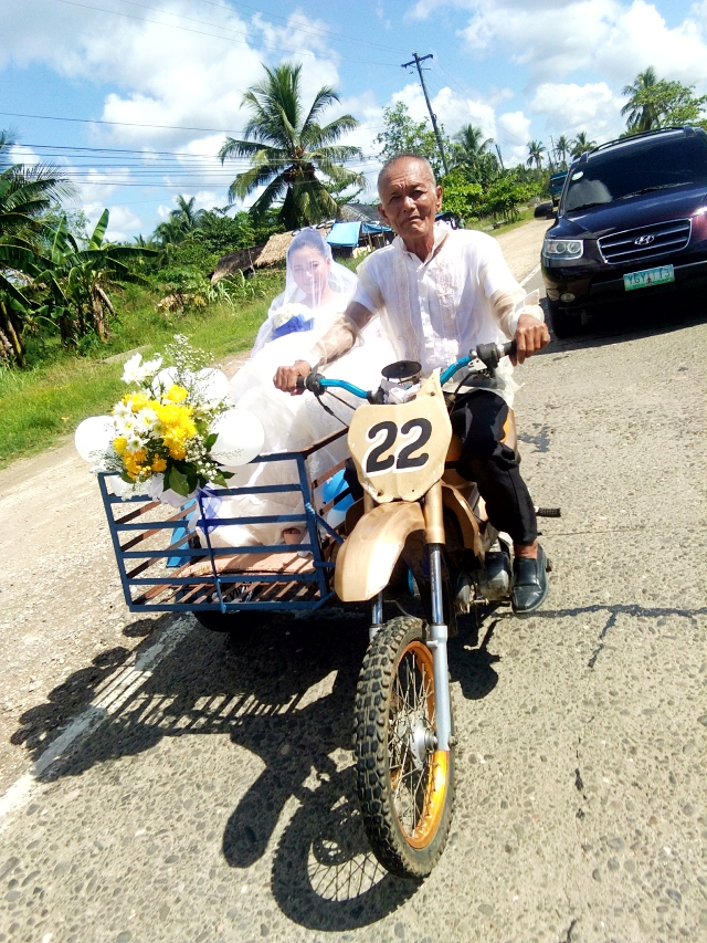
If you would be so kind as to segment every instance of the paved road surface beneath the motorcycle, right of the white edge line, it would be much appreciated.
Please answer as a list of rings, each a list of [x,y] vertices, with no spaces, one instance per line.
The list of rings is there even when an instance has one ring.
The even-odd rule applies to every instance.
[[[518,370],[524,474],[562,507],[551,591],[451,643],[456,814],[425,882],[380,870],[356,808],[365,614],[166,618],[65,680],[63,727],[51,694],[22,716],[0,941],[707,939],[707,325],[635,317]]]

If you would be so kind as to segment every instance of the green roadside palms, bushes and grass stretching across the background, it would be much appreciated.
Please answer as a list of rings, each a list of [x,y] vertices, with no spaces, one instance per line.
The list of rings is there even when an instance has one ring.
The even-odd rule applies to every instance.
[[[707,96],[646,69],[624,90],[626,135],[701,124]],[[219,157],[250,168],[229,199],[260,196],[246,212],[233,203],[198,209],[179,195],[168,219],[127,244],[106,240],[106,209],[89,227],[63,205],[75,192],[62,168],[11,160],[12,135],[0,133],[0,465],[46,448],[85,416],[104,411],[120,389],[122,354],[162,349],[176,332],[218,359],[247,349],[282,290],[282,270],[238,271],[211,281],[220,256],[264,245],[275,233],[338,218],[366,180],[346,165],[359,148],[341,144],[358,122],[326,121],[338,94],[321,87],[306,99],[300,70],[265,69],[243,97],[250,119],[242,139],[225,138]],[[597,145],[585,132],[528,144],[527,159],[506,167],[496,144],[466,125],[442,142],[403,103],[384,109],[381,159],[425,156],[444,187],[443,210],[462,224],[503,230],[532,216],[549,177]],[[355,262],[351,263],[355,266]]]

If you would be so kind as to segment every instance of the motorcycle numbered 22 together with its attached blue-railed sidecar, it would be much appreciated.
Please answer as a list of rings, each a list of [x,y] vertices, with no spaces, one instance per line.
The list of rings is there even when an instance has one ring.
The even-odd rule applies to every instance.
[[[286,615],[306,617],[336,605],[337,597],[371,604],[356,694],[357,788],[372,850],[389,871],[407,878],[430,873],[452,822],[447,638],[458,614],[507,600],[511,586],[508,541],[488,522],[476,486],[454,469],[461,442],[452,434],[447,400],[455,391],[443,386],[464,368],[457,389],[477,377],[493,383],[509,349],[481,346],[426,380],[418,376],[419,364],[399,362],[382,371],[372,392],[310,374],[305,386],[319,397],[339,387],[367,400],[348,430],[300,451],[258,455],[255,463],[282,468],[272,484],[219,492],[297,495],[292,513],[225,517],[210,509],[218,495],[201,493],[180,509],[148,495],[124,501],[112,493],[112,475],[98,475],[133,612],[192,612],[207,628],[238,633],[244,620],[252,628],[271,616],[276,624]],[[328,450],[347,432],[357,474],[335,486],[347,459]],[[515,448],[513,413],[505,432]],[[357,479],[360,497],[352,494]],[[351,497],[358,500],[349,504]],[[303,539],[296,546],[212,539],[219,527],[261,523],[297,526]],[[411,591],[424,619],[408,611]],[[384,621],[389,600],[404,615]],[[305,631],[306,619],[298,626]]]

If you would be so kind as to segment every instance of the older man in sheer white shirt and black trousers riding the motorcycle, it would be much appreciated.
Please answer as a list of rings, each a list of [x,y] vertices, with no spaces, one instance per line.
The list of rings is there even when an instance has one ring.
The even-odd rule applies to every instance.
[[[297,377],[349,350],[376,314],[400,359],[418,360],[424,375],[444,369],[479,343],[514,338],[513,360],[520,364],[549,344],[539,305],[528,304],[496,240],[435,223],[442,187],[424,158],[393,157],[380,171],[378,192],[380,214],[398,237],[361,263],[359,286],[344,317],[312,355],[277,369],[278,389],[300,392]],[[511,604],[517,615],[528,615],[547,596],[547,558],[516,454],[502,441],[516,388],[511,371],[502,362],[493,389],[457,396],[452,426],[462,440],[457,472],[476,482],[490,523],[514,542]]]

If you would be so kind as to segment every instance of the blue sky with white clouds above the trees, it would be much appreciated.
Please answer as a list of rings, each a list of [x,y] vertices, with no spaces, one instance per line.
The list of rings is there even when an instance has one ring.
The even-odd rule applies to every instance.
[[[707,92],[707,0],[1,0],[0,35],[0,127],[19,159],[65,165],[92,220],[109,207],[115,239],[151,232],[177,193],[225,205],[242,168],[215,154],[261,63],[302,63],[305,94],[339,90],[370,179],[383,107],[425,115],[400,67],[415,50],[434,56],[445,129],[481,125],[506,165],[531,138],[616,136],[621,90],[648,65]]]

